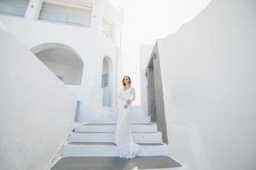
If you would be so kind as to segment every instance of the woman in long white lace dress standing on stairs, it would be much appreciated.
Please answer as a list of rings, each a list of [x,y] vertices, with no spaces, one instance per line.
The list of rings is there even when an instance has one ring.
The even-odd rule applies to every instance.
[[[125,76],[124,87],[119,90],[119,112],[114,133],[114,143],[117,145],[119,157],[134,158],[140,152],[139,144],[133,142],[130,129],[131,103],[136,99],[135,89],[131,87],[131,79]]]

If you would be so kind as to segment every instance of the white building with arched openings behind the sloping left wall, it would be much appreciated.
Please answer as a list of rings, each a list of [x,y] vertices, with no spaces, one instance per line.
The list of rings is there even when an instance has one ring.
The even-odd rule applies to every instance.
[[[73,90],[77,120],[116,107],[121,8],[104,0],[4,0],[0,22]]]

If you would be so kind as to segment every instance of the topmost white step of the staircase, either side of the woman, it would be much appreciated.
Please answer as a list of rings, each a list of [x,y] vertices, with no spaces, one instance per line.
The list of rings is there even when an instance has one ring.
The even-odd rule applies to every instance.
[[[131,123],[149,123],[150,116],[131,116],[130,122]],[[102,117],[99,119],[96,119],[92,122],[95,123],[115,123],[117,122],[117,116],[107,116],[107,117]]]

